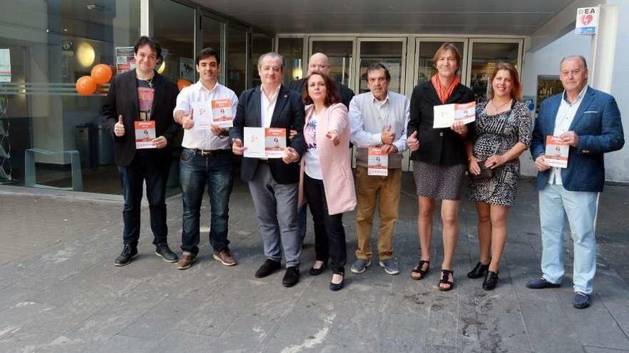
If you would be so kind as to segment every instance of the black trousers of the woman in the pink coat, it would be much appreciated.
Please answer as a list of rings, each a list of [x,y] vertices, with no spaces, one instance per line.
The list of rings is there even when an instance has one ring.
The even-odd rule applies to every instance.
[[[343,214],[328,214],[323,180],[304,175],[304,193],[314,222],[314,252],[317,260],[331,260],[332,270],[345,272],[347,249]]]

